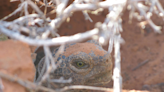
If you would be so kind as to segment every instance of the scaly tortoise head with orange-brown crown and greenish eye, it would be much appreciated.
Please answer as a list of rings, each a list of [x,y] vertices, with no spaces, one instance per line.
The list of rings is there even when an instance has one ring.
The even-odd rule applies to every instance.
[[[58,48],[52,54],[55,56]],[[62,60],[58,68],[50,74],[51,79],[72,78],[71,83],[51,83],[51,88],[62,88],[68,85],[102,86],[112,77],[112,60],[110,54],[97,42],[67,44],[64,53],[58,58]],[[57,62],[58,62],[57,61]],[[44,58],[38,68],[42,69]],[[45,82],[45,86],[48,82]],[[76,91],[77,92],[77,91]]]

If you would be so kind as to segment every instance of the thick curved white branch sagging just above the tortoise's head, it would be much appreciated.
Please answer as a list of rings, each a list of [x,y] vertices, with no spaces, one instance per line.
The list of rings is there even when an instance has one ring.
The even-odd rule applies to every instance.
[[[99,30],[98,29],[93,29],[84,33],[78,33],[73,36],[65,36],[65,37],[58,37],[58,38],[53,38],[53,39],[45,39],[45,40],[39,40],[39,39],[31,39],[29,37],[25,37],[19,33],[13,32],[9,29],[6,29],[2,25],[0,25],[0,31],[6,35],[8,35],[11,38],[15,38],[17,40],[20,40],[22,42],[28,43],[30,45],[35,45],[35,46],[58,46],[63,43],[73,43],[77,41],[83,41],[87,38],[92,37],[93,35],[98,34]]]

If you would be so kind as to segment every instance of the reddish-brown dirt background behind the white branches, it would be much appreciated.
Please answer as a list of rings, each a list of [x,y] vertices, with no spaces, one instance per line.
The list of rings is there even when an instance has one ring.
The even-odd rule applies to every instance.
[[[0,4],[0,18],[12,12],[18,2],[10,3],[3,0]],[[164,1],[159,0],[164,7]],[[93,22],[85,20],[81,12],[74,13],[70,22],[65,22],[58,29],[60,35],[73,35],[94,28],[98,21],[103,22],[107,11],[98,15],[90,14]],[[13,20],[18,15],[10,18]],[[129,11],[126,10],[122,16],[123,32],[122,38],[125,43],[121,45],[123,89],[149,90],[151,92],[164,92],[164,22],[162,18],[153,16],[154,22],[162,27],[162,33],[157,34],[150,26],[142,30],[138,21],[133,19],[129,23]],[[104,46],[107,50],[107,46]],[[141,63],[140,67],[136,68]],[[107,85],[112,87],[112,81]]]

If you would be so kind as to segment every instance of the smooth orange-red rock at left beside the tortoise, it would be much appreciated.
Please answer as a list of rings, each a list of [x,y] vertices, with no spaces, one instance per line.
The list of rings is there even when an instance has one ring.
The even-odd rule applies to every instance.
[[[0,42],[0,71],[23,80],[33,81],[35,67],[31,59],[31,51],[25,43],[7,40]],[[17,83],[2,79],[3,92],[27,92]]]

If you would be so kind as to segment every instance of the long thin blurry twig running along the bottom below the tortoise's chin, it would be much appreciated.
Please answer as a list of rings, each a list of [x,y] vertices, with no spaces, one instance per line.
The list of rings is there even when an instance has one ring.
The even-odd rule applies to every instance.
[[[73,86],[66,86],[64,88],[61,89],[57,89],[57,90],[53,90],[50,88],[46,88],[40,85],[36,85],[30,81],[25,81],[22,80],[18,77],[14,77],[14,76],[10,76],[8,74],[4,74],[2,72],[0,72],[0,77],[12,82],[17,82],[18,84],[22,85],[23,87],[26,87],[30,90],[41,90],[41,91],[45,91],[45,92],[64,92],[70,89],[90,89],[90,90],[100,90],[100,91],[112,91],[112,89],[110,88],[102,88],[102,87],[93,87],[93,86],[83,86],[83,85],[73,85]]]

